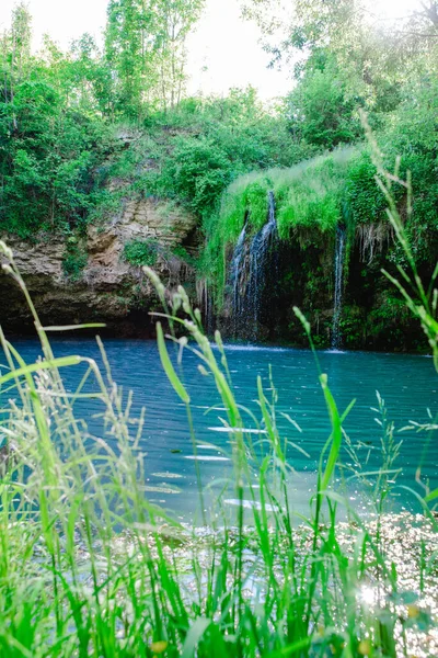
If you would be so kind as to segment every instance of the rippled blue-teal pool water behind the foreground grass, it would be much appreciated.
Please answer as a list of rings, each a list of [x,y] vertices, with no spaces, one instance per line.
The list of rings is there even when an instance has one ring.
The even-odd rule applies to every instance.
[[[38,343],[32,340],[15,341],[22,356],[34,361],[41,353]],[[57,356],[80,354],[102,363],[99,348],[93,340],[55,340]],[[148,496],[157,503],[184,514],[196,506],[196,478],[193,447],[186,420],[185,406],[180,401],[162,372],[153,341],[107,340],[105,348],[114,379],[125,392],[134,392],[134,416],[146,407],[146,424],[141,440],[145,451],[146,486]],[[238,401],[252,410],[257,418],[260,411],[256,399],[256,377],[260,374],[270,395],[269,365],[273,381],[278,390],[277,419],[281,434],[309,453],[306,457],[290,449],[289,462],[298,472],[297,497],[308,497],[314,487],[314,470],[323,444],[330,434],[326,407],[318,382],[318,371],[312,353],[308,350],[228,345],[229,367],[234,382]],[[345,430],[353,443],[365,444],[359,450],[364,468],[371,470],[381,464],[379,450],[381,428],[376,422],[378,415],[376,390],[385,400],[388,415],[396,429],[414,420],[429,422],[427,409],[433,416],[438,412],[438,375],[431,359],[405,354],[381,354],[360,352],[320,352],[319,359],[338,408],[343,411],[353,398],[356,405],[345,421]],[[1,360],[0,360],[1,361]],[[219,488],[221,478],[230,474],[229,434],[223,430],[220,399],[211,377],[197,371],[198,361],[189,351],[183,355],[183,372],[189,390],[196,438],[199,444],[199,464],[203,485],[215,484]],[[65,368],[64,375],[69,389],[73,389],[83,374],[83,367]],[[10,394],[9,394],[10,395]],[[78,415],[85,418],[90,432],[102,433],[100,421],[92,416],[99,411],[99,404],[81,401]],[[300,433],[281,416],[289,415],[302,429]],[[247,427],[254,429],[253,421]],[[257,441],[261,434],[251,434]],[[397,483],[416,490],[415,470],[422,463],[424,478],[430,486],[438,486],[438,440],[437,435],[414,431],[395,434],[403,439],[397,466],[402,474]],[[344,455],[348,461],[347,455]],[[368,462],[366,463],[366,460]],[[170,494],[169,486],[175,490]],[[176,492],[178,491],[178,492]],[[408,506],[408,494],[399,489],[401,503]]]

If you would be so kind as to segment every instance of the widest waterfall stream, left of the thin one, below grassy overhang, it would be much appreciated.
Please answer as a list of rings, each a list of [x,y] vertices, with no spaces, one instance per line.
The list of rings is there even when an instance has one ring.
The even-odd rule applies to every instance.
[[[266,275],[275,259],[273,248],[278,239],[274,193],[268,195],[268,216],[263,228],[246,243],[246,226],[239,236],[231,262],[232,317],[234,336],[244,333],[257,340],[262,297]]]

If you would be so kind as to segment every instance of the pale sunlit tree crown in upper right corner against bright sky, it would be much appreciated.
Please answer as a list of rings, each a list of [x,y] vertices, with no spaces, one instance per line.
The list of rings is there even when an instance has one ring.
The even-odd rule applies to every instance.
[[[288,13],[281,0],[245,0],[244,11],[262,27],[273,64],[293,63],[299,89],[292,104],[309,106],[314,121],[318,107],[333,115],[337,103],[342,120],[349,107],[361,106],[379,127],[400,103],[406,80],[419,68],[436,67],[437,5],[437,0],[425,0],[396,20],[388,20],[372,0],[295,0]],[[332,82],[328,69],[324,75],[319,66],[321,54],[331,61]]]

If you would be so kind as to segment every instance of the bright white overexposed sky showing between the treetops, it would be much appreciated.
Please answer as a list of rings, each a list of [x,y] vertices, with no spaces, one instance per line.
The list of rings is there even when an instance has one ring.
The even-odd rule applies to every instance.
[[[417,1],[378,0],[378,8],[400,15]],[[0,0],[0,30],[9,26],[14,4],[15,0]],[[45,33],[65,48],[84,32],[99,38],[105,24],[107,0],[27,0],[27,4],[36,47]],[[290,71],[267,68],[269,56],[258,43],[260,32],[240,18],[239,4],[239,0],[207,0],[188,44],[188,91],[227,93],[231,87],[252,84],[264,99],[284,95],[291,88]]]

